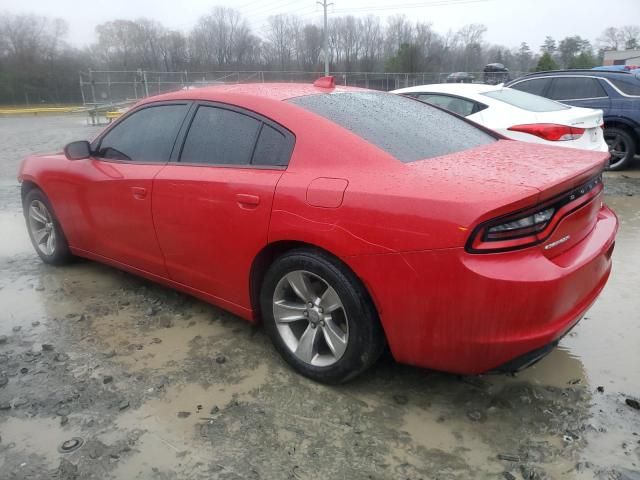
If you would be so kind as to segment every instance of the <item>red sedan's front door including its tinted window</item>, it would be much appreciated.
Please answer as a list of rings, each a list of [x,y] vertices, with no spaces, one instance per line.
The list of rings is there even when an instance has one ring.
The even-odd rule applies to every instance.
[[[143,106],[100,136],[90,158],[70,162],[70,208],[80,249],[166,276],[151,194],[187,111],[187,103]]]

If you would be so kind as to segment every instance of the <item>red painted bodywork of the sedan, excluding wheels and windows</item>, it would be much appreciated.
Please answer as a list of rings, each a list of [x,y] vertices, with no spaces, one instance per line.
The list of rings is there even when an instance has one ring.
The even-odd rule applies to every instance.
[[[367,108],[378,95],[400,108],[419,103],[296,84],[153,97],[110,129],[142,109],[180,104],[180,145],[197,109],[222,106],[281,129],[288,158],[253,168],[182,162],[175,147],[164,162],[31,156],[19,174],[23,195],[46,194],[73,254],[254,322],[264,272],[279,255],[300,246],[332,255],[362,282],[394,357],[421,367],[497,369],[581,318],[608,278],[617,231],[602,200],[606,154],[487,138],[400,161],[329,118],[323,102],[349,116],[340,95],[368,95],[352,98]],[[542,230],[487,240],[495,225],[543,208],[554,213]]]

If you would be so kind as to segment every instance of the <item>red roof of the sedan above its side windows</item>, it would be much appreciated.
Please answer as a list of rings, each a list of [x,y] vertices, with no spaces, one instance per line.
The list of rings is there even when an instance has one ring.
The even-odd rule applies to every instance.
[[[270,100],[287,100],[322,93],[363,91],[362,88],[322,88],[309,83],[240,83],[196,87],[148,97],[144,103],[169,100],[216,100],[220,95],[232,94],[261,97]]]

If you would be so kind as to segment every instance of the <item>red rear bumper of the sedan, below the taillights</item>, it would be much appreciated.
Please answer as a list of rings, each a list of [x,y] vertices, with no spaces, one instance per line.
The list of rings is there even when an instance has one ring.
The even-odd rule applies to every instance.
[[[551,259],[538,248],[455,248],[349,263],[372,292],[396,360],[475,374],[544,353],[582,318],[609,277],[617,228],[604,207],[582,241]]]

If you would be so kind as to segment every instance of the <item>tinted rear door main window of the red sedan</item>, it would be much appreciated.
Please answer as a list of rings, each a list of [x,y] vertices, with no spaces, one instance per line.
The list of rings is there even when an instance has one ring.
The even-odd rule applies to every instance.
[[[198,107],[180,161],[211,165],[248,165],[261,122],[225,108]]]

